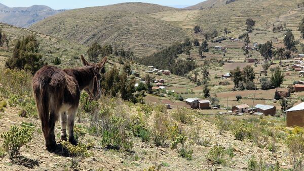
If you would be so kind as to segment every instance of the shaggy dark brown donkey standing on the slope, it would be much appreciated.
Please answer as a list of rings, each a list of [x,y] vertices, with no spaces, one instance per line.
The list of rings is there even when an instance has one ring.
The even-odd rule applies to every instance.
[[[81,91],[85,90],[89,94],[90,100],[100,98],[100,71],[106,60],[105,57],[100,63],[90,64],[81,55],[84,67],[62,70],[53,66],[44,66],[34,75],[32,88],[47,150],[54,151],[58,148],[54,128],[59,115],[61,140],[67,140],[67,125],[68,141],[77,145],[73,135],[73,126]]]

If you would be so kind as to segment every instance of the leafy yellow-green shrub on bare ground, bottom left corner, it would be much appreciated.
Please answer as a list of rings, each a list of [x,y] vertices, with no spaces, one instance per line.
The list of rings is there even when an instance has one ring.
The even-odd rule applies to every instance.
[[[30,142],[32,133],[32,129],[12,126],[10,131],[1,134],[1,138],[4,139],[3,148],[9,153],[10,158],[20,155],[20,148]]]

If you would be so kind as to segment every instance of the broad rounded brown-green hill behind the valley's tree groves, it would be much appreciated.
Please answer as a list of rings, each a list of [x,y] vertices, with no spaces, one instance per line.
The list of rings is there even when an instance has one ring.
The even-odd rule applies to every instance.
[[[141,56],[182,40],[186,33],[150,13],[180,11],[144,3],[124,3],[66,11],[30,27],[37,32],[90,45],[93,42],[130,48]]]

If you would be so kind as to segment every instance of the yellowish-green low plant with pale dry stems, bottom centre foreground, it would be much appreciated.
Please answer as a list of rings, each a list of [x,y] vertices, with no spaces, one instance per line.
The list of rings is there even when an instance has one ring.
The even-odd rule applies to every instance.
[[[188,145],[186,145],[186,143],[188,143]],[[180,144],[180,145],[179,145]],[[181,157],[185,157],[188,160],[192,159],[192,154],[193,154],[193,150],[189,149],[192,145],[194,144],[194,142],[192,141],[188,141],[187,136],[185,135],[180,135],[176,138],[175,141],[171,142],[171,147],[175,148],[178,152],[178,154]]]

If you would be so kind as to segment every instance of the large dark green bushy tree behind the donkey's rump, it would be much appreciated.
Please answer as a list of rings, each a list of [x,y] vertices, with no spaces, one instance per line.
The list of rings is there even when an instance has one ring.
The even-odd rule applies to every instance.
[[[34,35],[17,40],[12,57],[6,61],[6,68],[30,71],[34,74],[46,63],[39,53],[39,42]]]

